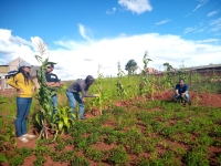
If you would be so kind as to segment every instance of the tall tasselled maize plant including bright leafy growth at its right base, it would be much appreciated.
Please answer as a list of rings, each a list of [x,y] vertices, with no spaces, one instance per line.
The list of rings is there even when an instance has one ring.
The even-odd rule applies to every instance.
[[[45,69],[49,63],[55,63],[50,62],[49,58],[43,60],[43,55],[46,53],[48,48],[42,40],[39,40],[39,43],[36,44],[36,50],[40,55],[35,55],[35,59],[38,60],[38,62],[41,63],[40,71],[36,71],[40,89],[38,90],[38,94],[35,96],[39,101],[40,111],[36,111],[34,115],[34,121],[35,124],[41,128],[40,136],[48,138],[49,131],[52,129],[56,133],[54,137],[55,139],[57,136],[57,132],[62,133],[65,128],[66,131],[69,131],[70,126],[74,124],[74,121],[71,118],[71,112],[66,106],[59,108],[55,115],[52,114],[53,110],[55,108],[52,106],[52,96],[56,92],[51,91],[51,89],[46,85]]]

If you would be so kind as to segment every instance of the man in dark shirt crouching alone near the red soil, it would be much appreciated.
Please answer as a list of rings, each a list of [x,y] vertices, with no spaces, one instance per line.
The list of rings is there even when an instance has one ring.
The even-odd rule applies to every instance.
[[[182,104],[186,105],[190,97],[188,91],[188,84],[185,83],[183,79],[180,79],[179,84],[176,85],[175,101],[181,100]]]

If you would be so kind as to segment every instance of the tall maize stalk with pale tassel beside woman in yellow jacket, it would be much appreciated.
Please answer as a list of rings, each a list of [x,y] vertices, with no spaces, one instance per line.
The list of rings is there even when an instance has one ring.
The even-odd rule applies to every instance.
[[[63,118],[64,120],[63,122],[60,120],[57,124],[53,123],[54,118],[52,114],[55,107],[53,107],[52,105],[52,96],[56,92],[51,91],[51,89],[46,85],[46,77],[45,77],[46,65],[53,62],[49,62],[49,58],[43,60],[43,54],[46,52],[48,48],[42,40],[39,40],[36,49],[40,55],[35,55],[35,59],[41,63],[41,69],[40,71],[36,71],[36,77],[40,89],[38,90],[35,97],[39,101],[40,111],[35,113],[34,121],[35,124],[39,126],[39,128],[41,128],[40,137],[48,138],[48,133],[50,129],[55,131],[57,133],[57,131],[61,131],[61,127],[64,126],[63,122],[65,122],[64,124],[67,125],[66,124],[67,117]]]

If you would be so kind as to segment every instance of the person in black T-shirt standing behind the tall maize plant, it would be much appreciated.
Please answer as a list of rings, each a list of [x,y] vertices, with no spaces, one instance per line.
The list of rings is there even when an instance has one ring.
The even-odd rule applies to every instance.
[[[49,87],[51,87],[51,92],[53,92],[53,95],[52,95],[52,105],[53,105],[53,115],[54,115],[57,112],[56,111],[57,95],[55,93],[55,89],[54,87],[60,87],[63,84],[60,82],[60,80],[56,76],[56,74],[52,73],[53,70],[54,70],[54,64],[53,63],[48,63],[45,77],[46,77],[46,85]]]

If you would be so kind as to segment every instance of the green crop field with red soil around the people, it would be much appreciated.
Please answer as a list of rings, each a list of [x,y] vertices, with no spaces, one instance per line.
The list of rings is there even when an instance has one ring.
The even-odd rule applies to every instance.
[[[0,165],[25,165],[28,160],[34,166],[221,165],[221,107],[199,104],[202,92],[220,92],[221,83],[211,82],[219,77],[185,70],[172,73],[168,63],[162,76],[148,75],[149,61],[144,56],[139,75],[127,76],[120,68],[117,77],[98,73],[88,93],[99,97],[86,100],[86,121],[80,121],[77,113],[75,121],[70,118],[65,89],[71,83],[66,83],[57,90],[59,112],[53,117],[56,122],[51,123],[51,101],[42,83],[28,121],[29,132],[39,136],[30,141],[33,147],[18,147],[15,96],[0,96]],[[42,66],[45,64],[43,61]],[[190,94],[196,94],[186,107],[170,100],[179,77],[186,79]],[[171,96],[165,100],[166,93]]]

